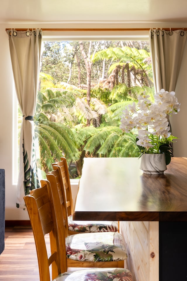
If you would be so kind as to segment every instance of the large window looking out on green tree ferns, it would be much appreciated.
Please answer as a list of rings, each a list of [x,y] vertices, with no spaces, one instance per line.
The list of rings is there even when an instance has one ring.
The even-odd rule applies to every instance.
[[[44,41],[34,116],[39,177],[62,155],[72,179],[84,157],[137,156],[120,119],[142,91],[154,93],[148,40]]]

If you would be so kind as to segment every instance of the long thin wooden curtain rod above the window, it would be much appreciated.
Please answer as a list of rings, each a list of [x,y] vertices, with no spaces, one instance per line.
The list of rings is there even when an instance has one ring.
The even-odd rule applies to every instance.
[[[6,28],[10,30],[14,28]],[[27,31],[36,28],[15,28],[17,31]],[[149,31],[151,28],[41,28],[42,31]],[[153,28],[160,30],[161,28]],[[162,28],[163,30],[187,30],[187,28]]]

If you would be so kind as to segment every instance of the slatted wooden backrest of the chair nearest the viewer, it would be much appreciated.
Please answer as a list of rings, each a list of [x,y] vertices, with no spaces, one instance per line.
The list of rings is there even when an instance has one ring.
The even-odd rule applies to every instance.
[[[34,189],[24,196],[34,235],[40,281],[50,281],[49,266],[52,266],[52,279],[67,271],[65,233],[57,227],[49,181],[41,181],[41,188]],[[47,253],[45,235],[49,233],[51,253]],[[58,239],[59,237],[59,239]]]

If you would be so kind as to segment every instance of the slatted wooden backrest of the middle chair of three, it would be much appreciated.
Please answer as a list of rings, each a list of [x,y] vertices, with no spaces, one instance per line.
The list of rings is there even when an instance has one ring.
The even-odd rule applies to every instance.
[[[63,224],[63,227],[65,229],[65,236],[67,237],[69,235],[67,207],[66,207],[66,200],[65,200],[65,191],[64,191],[63,183],[60,180],[59,170],[56,169],[54,171],[47,173],[46,177],[50,182],[50,186],[51,186],[51,193],[52,193],[53,204],[56,213],[56,219],[57,221],[59,221],[59,223]]]

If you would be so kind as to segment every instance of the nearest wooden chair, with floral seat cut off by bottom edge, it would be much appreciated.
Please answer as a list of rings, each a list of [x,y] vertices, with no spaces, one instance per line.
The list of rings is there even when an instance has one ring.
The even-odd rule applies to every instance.
[[[123,268],[92,268],[67,272],[64,227],[58,227],[56,221],[49,181],[41,181],[41,186],[41,188],[32,190],[30,195],[24,196],[34,234],[40,281],[51,280],[50,265],[52,265],[53,281],[65,281],[66,279],[84,281],[88,280],[90,276],[95,277],[94,280],[104,281],[108,275],[113,280],[119,274],[132,281],[130,271]],[[50,256],[47,254],[45,243],[47,233],[50,237]],[[97,277],[101,279],[96,279]]]

